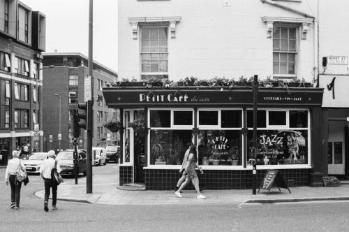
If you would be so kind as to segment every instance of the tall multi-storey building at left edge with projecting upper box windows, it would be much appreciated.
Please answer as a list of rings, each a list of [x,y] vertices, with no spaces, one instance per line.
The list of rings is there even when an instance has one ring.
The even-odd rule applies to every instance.
[[[45,15],[0,0],[0,164],[23,145],[43,150],[43,51]]]

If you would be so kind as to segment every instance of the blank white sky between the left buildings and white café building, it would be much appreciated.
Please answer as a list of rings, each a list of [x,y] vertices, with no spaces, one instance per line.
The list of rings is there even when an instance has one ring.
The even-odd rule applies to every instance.
[[[46,52],[89,55],[89,0],[20,0],[46,15]],[[94,60],[117,69],[117,0],[94,1]]]

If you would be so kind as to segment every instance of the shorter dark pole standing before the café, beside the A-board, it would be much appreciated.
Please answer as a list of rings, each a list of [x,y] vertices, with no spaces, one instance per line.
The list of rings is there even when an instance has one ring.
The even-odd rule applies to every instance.
[[[257,186],[257,96],[258,96],[258,75],[253,78],[253,152],[254,152],[254,162],[252,164],[252,194],[255,195]]]

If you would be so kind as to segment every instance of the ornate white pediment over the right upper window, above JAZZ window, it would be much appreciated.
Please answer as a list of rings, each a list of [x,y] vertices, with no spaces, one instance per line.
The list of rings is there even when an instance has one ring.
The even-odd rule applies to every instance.
[[[299,24],[302,30],[302,39],[306,39],[306,34],[309,31],[309,25],[313,22],[313,18],[299,17],[262,17],[262,21],[266,24],[267,38],[272,38],[274,22]]]

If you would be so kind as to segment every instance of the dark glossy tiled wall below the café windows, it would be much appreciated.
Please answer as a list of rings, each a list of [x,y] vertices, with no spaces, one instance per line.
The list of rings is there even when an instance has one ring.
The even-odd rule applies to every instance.
[[[126,167],[122,167],[124,169]],[[280,170],[285,182],[292,186],[309,185],[309,175],[311,169],[283,169]],[[181,174],[178,170],[163,169],[145,169],[145,188],[147,190],[172,190],[177,184]],[[257,187],[262,181],[266,170],[257,172]],[[129,173],[120,169],[120,185],[121,174]],[[204,175],[198,174],[200,181],[200,189],[251,189],[252,188],[252,171],[237,170],[205,170]],[[132,170],[131,170],[132,181]],[[122,177],[126,183],[126,178]],[[186,189],[194,189],[193,184],[188,184]]]

